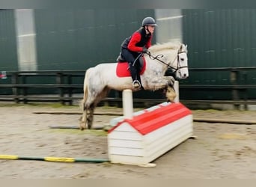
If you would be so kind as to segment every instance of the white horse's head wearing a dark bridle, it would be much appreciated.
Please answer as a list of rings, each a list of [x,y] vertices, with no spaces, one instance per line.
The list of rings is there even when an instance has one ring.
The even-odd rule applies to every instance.
[[[180,49],[177,52],[177,67],[175,76],[177,79],[186,79],[189,77],[187,46],[181,44]]]

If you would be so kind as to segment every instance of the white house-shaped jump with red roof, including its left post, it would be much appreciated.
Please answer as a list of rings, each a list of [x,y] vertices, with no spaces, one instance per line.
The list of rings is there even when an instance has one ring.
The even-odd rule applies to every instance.
[[[154,167],[150,162],[192,137],[192,113],[180,102],[162,102],[132,114],[131,93],[123,91],[123,102],[131,104],[124,105],[124,116],[111,121],[109,161]]]

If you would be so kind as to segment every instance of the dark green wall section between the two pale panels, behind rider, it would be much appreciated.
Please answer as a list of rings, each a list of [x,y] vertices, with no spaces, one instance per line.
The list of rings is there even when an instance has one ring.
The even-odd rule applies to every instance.
[[[38,70],[85,70],[115,62],[121,42],[153,10],[35,10]]]

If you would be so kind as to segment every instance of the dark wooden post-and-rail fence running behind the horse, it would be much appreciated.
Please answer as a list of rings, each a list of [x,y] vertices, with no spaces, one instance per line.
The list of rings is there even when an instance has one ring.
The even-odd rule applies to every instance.
[[[238,84],[238,76],[247,71],[256,70],[256,67],[220,67],[220,68],[191,68],[190,72],[196,71],[228,71],[230,72],[231,85],[186,85],[180,84],[180,90],[229,90],[232,92],[231,100],[185,100],[180,99],[184,104],[186,103],[220,103],[220,104],[233,104],[235,106],[256,105],[255,100],[248,100],[249,89],[255,89],[254,84]],[[0,101],[13,101],[13,102],[61,102],[62,104],[73,104],[74,99],[82,99],[81,96],[77,96],[74,91],[82,93],[82,84],[73,82],[74,78],[83,80],[85,71],[81,70],[49,70],[49,71],[10,71],[6,73],[8,81],[1,81],[0,79]],[[46,77],[54,80],[53,83],[30,83],[27,82],[27,78],[34,77],[36,80],[38,77]],[[246,76],[245,76],[246,77]],[[83,81],[82,81],[83,82]],[[55,89],[54,94],[31,94],[28,93],[29,89]],[[3,93],[8,90],[10,93]],[[242,97],[240,96],[242,93]],[[119,102],[121,103],[121,94],[116,94],[115,97],[107,97],[103,99],[103,102]],[[165,101],[165,99],[137,99],[134,98],[134,102],[144,103],[159,103]]]

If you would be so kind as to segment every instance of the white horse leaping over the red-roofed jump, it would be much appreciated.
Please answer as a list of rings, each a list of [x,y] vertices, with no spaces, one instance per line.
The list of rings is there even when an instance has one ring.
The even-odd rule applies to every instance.
[[[165,72],[171,69],[176,79],[186,79],[189,76],[187,46],[183,43],[162,43],[150,46],[148,53],[143,54],[146,63],[141,74],[141,83],[144,90],[156,91],[163,89],[168,101],[173,102],[174,77],[165,76]],[[124,62],[122,62],[124,63]],[[116,73],[118,63],[97,64],[85,71],[84,96],[82,99],[82,117],[79,129],[91,129],[94,117],[94,108],[98,102],[105,98],[110,90],[124,91],[132,87],[131,76],[119,77]],[[128,67],[128,65],[127,65]],[[128,70],[129,71],[129,70]]]

